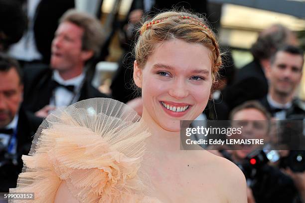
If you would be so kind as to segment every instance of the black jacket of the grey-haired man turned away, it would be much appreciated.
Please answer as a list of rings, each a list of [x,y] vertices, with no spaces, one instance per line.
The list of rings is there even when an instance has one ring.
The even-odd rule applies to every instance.
[[[245,101],[258,100],[267,95],[268,81],[260,63],[254,60],[241,68],[235,82],[222,93],[231,110]]]

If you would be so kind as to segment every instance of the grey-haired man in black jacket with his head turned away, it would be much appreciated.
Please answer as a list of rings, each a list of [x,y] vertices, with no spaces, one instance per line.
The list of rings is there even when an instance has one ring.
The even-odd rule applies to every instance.
[[[283,25],[272,25],[259,34],[251,47],[254,60],[242,67],[233,84],[222,91],[223,99],[230,110],[245,101],[260,99],[268,93],[265,71],[271,55],[283,44],[298,44],[296,35]]]

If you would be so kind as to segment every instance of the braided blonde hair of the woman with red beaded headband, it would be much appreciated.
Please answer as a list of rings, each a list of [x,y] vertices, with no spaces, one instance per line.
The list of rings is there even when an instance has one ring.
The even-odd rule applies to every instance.
[[[209,50],[212,62],[212,82],[217,81],[218,70],[222,64],[221,54],[216,36],[207,27],[204,18],[188,12],[162,12],[152,20],[143,23],[139,29],[140,33],[135,47],[136,60],[140,68],[144,68],[157,43],[180,39],[188,43],[201,44]]]

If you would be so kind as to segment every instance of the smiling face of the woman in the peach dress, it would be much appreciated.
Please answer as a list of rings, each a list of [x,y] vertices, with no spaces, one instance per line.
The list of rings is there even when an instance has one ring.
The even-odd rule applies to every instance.
[[[145,67],[135,61],[134,79],[142,88],[143,118],[167,131],[204,110],[212,85],[208,49],[179,39],[156,45]]]

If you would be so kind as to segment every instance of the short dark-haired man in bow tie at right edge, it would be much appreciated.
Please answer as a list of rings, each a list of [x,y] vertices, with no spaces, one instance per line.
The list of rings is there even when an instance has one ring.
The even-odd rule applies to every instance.
[[[269,91],[260,102],[277,120],[305,118],[305,109],[294,98],[302,79],[303,64],[303,51],[291,45],[279,48],[271,57],[266,69]]]

